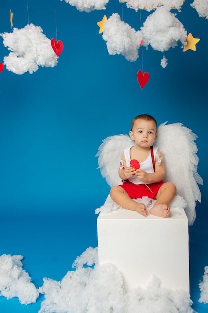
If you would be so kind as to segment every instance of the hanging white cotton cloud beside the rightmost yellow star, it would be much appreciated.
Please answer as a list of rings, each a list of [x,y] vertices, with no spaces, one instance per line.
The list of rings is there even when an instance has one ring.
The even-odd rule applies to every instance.
[[[147,17],[141,32],[143,45],[151,45],[154,50],[161,52],[174,48],[178,41],[183,45],[187,38],[187,31],[182,23],[163,6]]]

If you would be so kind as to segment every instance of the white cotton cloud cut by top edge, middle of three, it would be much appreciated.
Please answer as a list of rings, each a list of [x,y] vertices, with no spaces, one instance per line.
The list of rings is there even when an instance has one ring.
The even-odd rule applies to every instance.
[[[129,8],[135,9],[145,9],[151,11],[160,7],[162,5],[166,6],[169,10],[171,8],[180,9],[184,3],[184,0],[118,0],[121,3],[126,3]]]

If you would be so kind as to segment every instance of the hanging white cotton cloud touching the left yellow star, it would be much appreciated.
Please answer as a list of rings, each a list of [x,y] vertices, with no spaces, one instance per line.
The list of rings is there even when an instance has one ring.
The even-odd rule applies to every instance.
[[[109,54],[122,54],[128,61],[136,61],[139,57],[138,49],[142,39],[140,32],[121,21],[117,13],[105,22],[103,39],[107,41]]]

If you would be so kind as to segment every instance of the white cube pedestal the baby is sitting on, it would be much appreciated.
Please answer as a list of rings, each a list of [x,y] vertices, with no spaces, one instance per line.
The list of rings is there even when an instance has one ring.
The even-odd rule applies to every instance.
[[[161,287],[189,292],[189,235],[184,210],[169,218],[122,209],[97,218],[99,264],[113,263],[127,290],[145,288],[155,274]]]

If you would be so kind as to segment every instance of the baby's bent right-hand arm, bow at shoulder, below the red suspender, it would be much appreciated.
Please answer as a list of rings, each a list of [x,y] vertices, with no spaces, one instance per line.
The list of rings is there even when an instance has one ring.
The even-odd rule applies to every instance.
[[[156,156],[155,172],[150,174],[150,173],[146,173],[145,171],[141,169],[137,169],[136,175],[137,175],[138,180],[154,183],[154,182],[159,182],[164,179],[165,174],[166,174],[164,159],[160,151],[157,151],[157,155],[159,156],[159,158]],[[159,162],[158,162],[158,159],[159,159]]]

